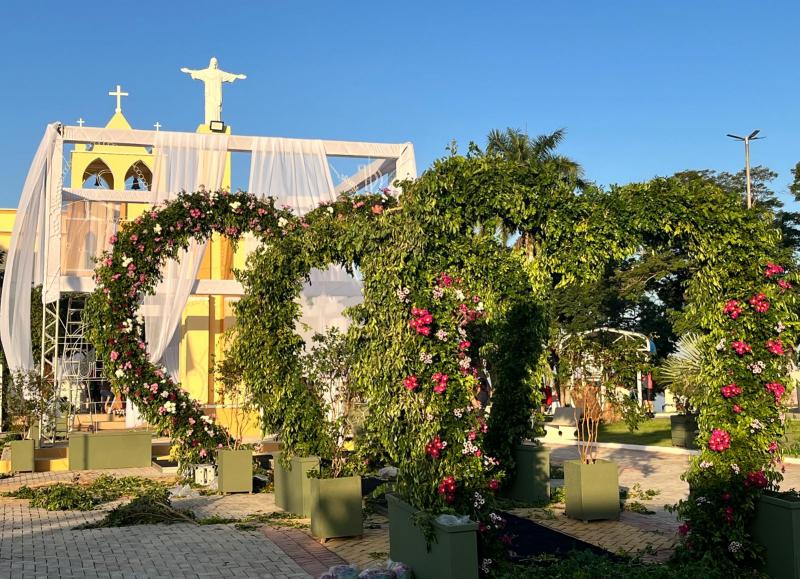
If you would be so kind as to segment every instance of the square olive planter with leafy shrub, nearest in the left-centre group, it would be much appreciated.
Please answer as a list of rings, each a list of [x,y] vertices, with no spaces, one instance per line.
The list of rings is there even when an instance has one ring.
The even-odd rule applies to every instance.
[[[318,539],[364,534],[361,477],[312,478],[311,534]]]

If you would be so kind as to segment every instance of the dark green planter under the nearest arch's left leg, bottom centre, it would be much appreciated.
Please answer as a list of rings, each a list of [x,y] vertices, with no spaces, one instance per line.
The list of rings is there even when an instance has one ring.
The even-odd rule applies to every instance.
[[[440,525],[436,541],[427,548],[422,530],[414,524],[417,509],[394,495],[389,502],[389,557],[414,571],[416,579],[476,579],[478,524]]]

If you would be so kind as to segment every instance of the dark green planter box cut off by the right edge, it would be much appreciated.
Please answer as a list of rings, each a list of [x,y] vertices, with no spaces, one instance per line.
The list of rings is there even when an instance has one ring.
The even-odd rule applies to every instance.
[[[756,509],[753,538],[767,548],[764,571],[775,579],[800,578],[800,501],[765,492]]]

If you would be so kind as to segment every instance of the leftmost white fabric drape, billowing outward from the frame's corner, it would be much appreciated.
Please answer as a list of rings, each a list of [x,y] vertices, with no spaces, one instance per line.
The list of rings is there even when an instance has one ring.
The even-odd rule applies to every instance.
[[[31,354],[31,287],[42,283],[44,269],[45,187],[58,124],[47,126],[20,195],[6,257],[0,340],[12,372],[34,369]],[[58,167],[61,170],[61,167]]]

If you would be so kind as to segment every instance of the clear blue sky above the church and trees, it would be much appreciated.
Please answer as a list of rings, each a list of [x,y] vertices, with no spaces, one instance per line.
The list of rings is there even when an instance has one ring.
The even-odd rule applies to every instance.
[[[117,83],[135,128],[194,130],[210,56],[239,134],[414,142],[420,169],[492,128],[565,127],[602,184],[800,160],[800,3],[29,2],[3,4],[0,206],[50,121],[103,125]],[[10,23],[10,24],[9,24]]]

